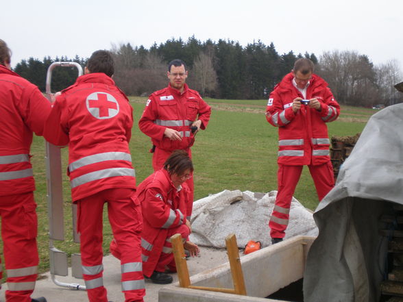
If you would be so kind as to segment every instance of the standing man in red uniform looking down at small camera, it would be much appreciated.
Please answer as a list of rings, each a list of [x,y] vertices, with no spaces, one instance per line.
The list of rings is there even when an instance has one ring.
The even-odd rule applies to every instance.
[[[266,118],[278,127],[278,192],[269,221],[271,242],[282,241],[289,223],[291,199],[307,165],[319,201],[334,187],[328,127],[340,114],[326,81],[313,74],[313,62],[297,60],[269,97]]]

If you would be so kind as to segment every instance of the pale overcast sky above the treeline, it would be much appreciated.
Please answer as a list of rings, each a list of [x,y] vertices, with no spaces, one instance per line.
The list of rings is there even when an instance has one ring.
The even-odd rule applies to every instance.
[[[318,58],[323,51],[357,51],[374,64],[398,60],[403,70],[402,0],[9,0],[1,11],[0,38],[12,49],[12,66],[47,55],[88,58],[112,43],[149,49],[195,35],[244,46],[260,39],[280,54]]]

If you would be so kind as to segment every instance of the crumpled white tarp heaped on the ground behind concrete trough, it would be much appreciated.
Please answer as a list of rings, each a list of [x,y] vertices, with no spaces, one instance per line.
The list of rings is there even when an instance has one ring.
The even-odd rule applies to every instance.
[[[249,240],[262,247],[271,244],[269,219],[277,191],[267,194],[224,190],[193,203],[191,241],[206,247],[225,247],[225,237],[234,233],[240,248]],[[312,212],[293,198],[286,237],[317,236]]]

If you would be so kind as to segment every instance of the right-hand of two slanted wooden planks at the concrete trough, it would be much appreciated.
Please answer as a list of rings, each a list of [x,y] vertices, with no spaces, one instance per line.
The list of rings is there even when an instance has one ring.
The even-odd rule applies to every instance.
[[[227,245],[228,260],[230,260],[230,268],[232,281],[236,294],[246,296],[245,281],[243,279],[241,258],[239,257],[238,244],[236,244],[235,234],[230,234],[225,238]]]

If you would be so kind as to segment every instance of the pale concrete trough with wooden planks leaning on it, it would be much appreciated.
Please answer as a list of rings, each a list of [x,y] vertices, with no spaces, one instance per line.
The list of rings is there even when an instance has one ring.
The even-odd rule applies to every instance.
[[[249,255],[241,256],[247,296],[181,288],[179,283],[161,288],[159,302],[230,302],[280,301],[269,295],[304,277],[306,256],[315,240],[311,236],[295,236]],[[205,270],[191,277],[193,286],[234,288],[230,263]],[[284,301],[284,300],[282,300]]]

